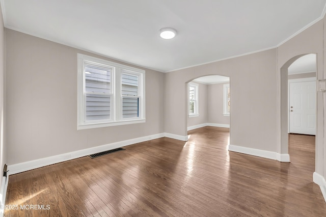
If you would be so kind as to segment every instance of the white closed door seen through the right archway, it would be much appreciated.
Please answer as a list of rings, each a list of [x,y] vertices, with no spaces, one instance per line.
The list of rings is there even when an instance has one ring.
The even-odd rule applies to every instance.
[[[316,82],[289,84],[289,132],[316,134]]]

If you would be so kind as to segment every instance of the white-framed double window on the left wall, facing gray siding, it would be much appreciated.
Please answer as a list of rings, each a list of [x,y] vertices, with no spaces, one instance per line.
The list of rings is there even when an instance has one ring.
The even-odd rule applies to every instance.
[[[78,129],[145,122],[145,71],[78,54]]]

